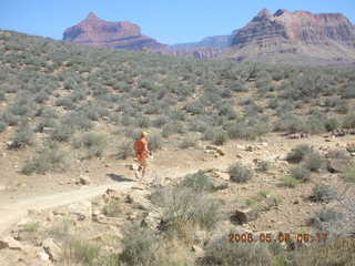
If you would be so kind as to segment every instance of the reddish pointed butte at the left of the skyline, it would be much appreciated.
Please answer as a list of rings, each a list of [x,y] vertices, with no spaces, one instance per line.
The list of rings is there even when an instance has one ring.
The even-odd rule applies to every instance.
[[[143,48],[164,48],[154,39],[142,35],[141,28],[129,21],[108,22],[101,20],[95,13],[90,14],[79,24],[67,29],[64,41],[94,47],[142,50]]]

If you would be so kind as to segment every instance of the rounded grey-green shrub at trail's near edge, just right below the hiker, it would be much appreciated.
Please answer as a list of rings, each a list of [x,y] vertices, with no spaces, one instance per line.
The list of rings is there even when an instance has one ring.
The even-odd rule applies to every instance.
[[[186,175],[180,183],[181,186],[191,187],[196,192],[212,192],[214,190],[213,181],[211,176],[205,172],[200,170],[194,174]]]

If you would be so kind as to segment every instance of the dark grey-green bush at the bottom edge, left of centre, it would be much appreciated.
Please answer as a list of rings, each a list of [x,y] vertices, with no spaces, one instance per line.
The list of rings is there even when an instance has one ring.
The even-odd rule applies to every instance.
[[[120,263],[129,266],[159,265],[156,257],[159,241],[151,229],[139,226],[129,227],[125,229],[122,244],[123,250],[119,256]]]

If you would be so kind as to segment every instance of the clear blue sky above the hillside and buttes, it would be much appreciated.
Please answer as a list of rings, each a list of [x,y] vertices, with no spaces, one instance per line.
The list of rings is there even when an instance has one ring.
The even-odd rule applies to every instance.
[[[0,0],[0,29],[61,39],[90,11],[106,21],[129,20],[162,43],[230,34],[261,9],[341,12],[355,23],[354,0]]]

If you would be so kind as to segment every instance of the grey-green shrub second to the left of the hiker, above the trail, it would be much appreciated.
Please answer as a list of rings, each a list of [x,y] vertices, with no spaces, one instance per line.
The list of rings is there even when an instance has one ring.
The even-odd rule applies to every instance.
[[[106,149],[106,141],[104,135],[89,132],[77,137],[73,141],[73,146],[75,149],[80,149],[80,147],[87,149],[88,151],[87,157],[89,158],[94,156],[100,157],[102,156],[104,150]]]

